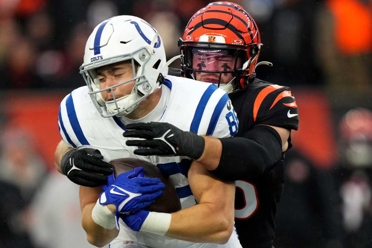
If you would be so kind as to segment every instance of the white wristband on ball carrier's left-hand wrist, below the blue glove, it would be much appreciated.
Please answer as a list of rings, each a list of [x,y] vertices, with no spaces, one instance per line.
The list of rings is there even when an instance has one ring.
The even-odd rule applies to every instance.
[[[115,213],[112,213],[106,205],[99,204],[99,199],[93,207],[92,219],[98,225],[108,230],[116,228]]]

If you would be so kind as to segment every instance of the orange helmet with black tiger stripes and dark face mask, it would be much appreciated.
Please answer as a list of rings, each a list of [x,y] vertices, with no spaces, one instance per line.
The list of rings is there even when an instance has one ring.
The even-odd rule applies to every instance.
[[[191,17],[179,39],[179,49],[184,55],[182,74],[195,78],[195,72],[205,72],[192,68],[190,48],[228,49],[242,59],[242,66],[231,71],[235,77],[234,90],[245,88],[256,75],[260,42],[256,23],[240,5],[227,1],[210,3]],[[214,73],[221,75],[222,72]]]

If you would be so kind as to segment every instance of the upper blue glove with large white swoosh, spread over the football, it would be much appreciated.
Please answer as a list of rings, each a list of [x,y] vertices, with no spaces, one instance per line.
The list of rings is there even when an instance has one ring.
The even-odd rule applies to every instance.
[[[138,175],[144,175],[142,167],[120,174],[113,184],[100,194],[99,203],[114,204],[115,214],[118,215],[136,212],[155,202],[165,188],[164,184],[159,178],[137,177]]]

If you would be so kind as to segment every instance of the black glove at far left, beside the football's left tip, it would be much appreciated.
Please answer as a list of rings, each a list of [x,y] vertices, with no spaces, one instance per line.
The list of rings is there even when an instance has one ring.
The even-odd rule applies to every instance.
[[[113,173],[112,166],[102,161],[100,151],[83,148],[66,152],[61,160],[61,170],[68,179],[87,187],[99,187],[107,183],[107,176]]]

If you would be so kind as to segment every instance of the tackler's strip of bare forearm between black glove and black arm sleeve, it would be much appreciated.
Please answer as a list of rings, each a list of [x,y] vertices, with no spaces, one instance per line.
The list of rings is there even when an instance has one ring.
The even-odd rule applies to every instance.
[[[211,136],[203,136],[205,147],[202,156],[196,160],[207,170],[215,170],[219,164],[222,152],[221,141]]]

